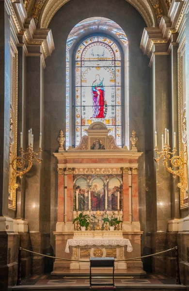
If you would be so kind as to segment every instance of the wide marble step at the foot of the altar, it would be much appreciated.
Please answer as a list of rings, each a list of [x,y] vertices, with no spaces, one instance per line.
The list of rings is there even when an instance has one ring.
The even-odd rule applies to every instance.
[[[100,276],[103,278],[110,278],[112,276],[112,269],[100,269],[95,268],[92,269],[93,278],[98,279]],[[104,275],[103,275],[104,274]],[[89,278],[89,269],[80,269],[80,270],[70,270],[69,268],[65,268],[62,270],[54,270],[51,273],[52,278],[66,278],[66,279],[80,279],[80,278]],[[142,270],[142,268],[127,268],[126,270],[115,270],[114,278],[125,279],[125,278],[145,278],[146,272]]]

